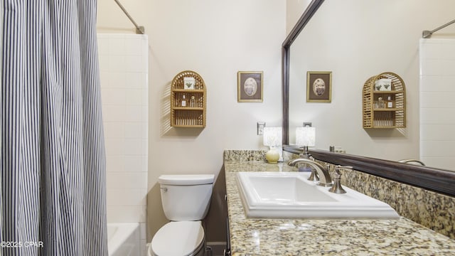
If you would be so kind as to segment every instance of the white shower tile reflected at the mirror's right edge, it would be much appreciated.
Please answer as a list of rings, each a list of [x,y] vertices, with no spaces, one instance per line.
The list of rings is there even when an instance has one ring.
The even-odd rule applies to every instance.
[[[455,38],[421,39],[420,160],[455,166]]]

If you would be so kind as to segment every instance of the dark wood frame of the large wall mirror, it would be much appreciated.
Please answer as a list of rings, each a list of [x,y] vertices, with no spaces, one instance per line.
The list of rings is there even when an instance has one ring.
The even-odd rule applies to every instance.
[[[283,97],[283,150],[300,154],[302,149],[289,145],[289,58],[290,47],[311,17],[316,14],[324,0],[313,0],[297,21],[296,26],[282,44],[282,97]],[[338,154],[330,151],[312,149],[311,155],[331,164],[353,166],[356,171],[363,171],[393,181],[407,183],[437,193],[455,196],[455,172],[444,169],[402,164],[397,161],[374,159],[365,156]]]

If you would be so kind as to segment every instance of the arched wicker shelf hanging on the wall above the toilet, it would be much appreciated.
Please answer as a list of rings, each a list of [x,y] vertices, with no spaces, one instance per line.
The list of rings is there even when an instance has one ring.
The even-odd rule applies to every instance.
[[[205,83],[186,70],[171,82],[171,127],[205,127]]]

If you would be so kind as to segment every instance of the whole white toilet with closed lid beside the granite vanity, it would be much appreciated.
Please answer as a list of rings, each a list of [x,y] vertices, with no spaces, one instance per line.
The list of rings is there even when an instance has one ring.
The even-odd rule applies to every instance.
[[[200,220],[208,212],[214,178],[213,174],[159,176],[164,215],[171,222],[154,235],[149,256],[204,255]]]

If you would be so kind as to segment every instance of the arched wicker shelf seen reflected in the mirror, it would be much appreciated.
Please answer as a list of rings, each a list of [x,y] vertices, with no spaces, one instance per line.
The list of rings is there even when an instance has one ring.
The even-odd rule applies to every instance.
[[[387,90],[377,83],[390,81]],[[377,87],[378,86],[378,87]],[[399,75],[380,73],[363,85],[363,128],[406,127],[406,89]]]

